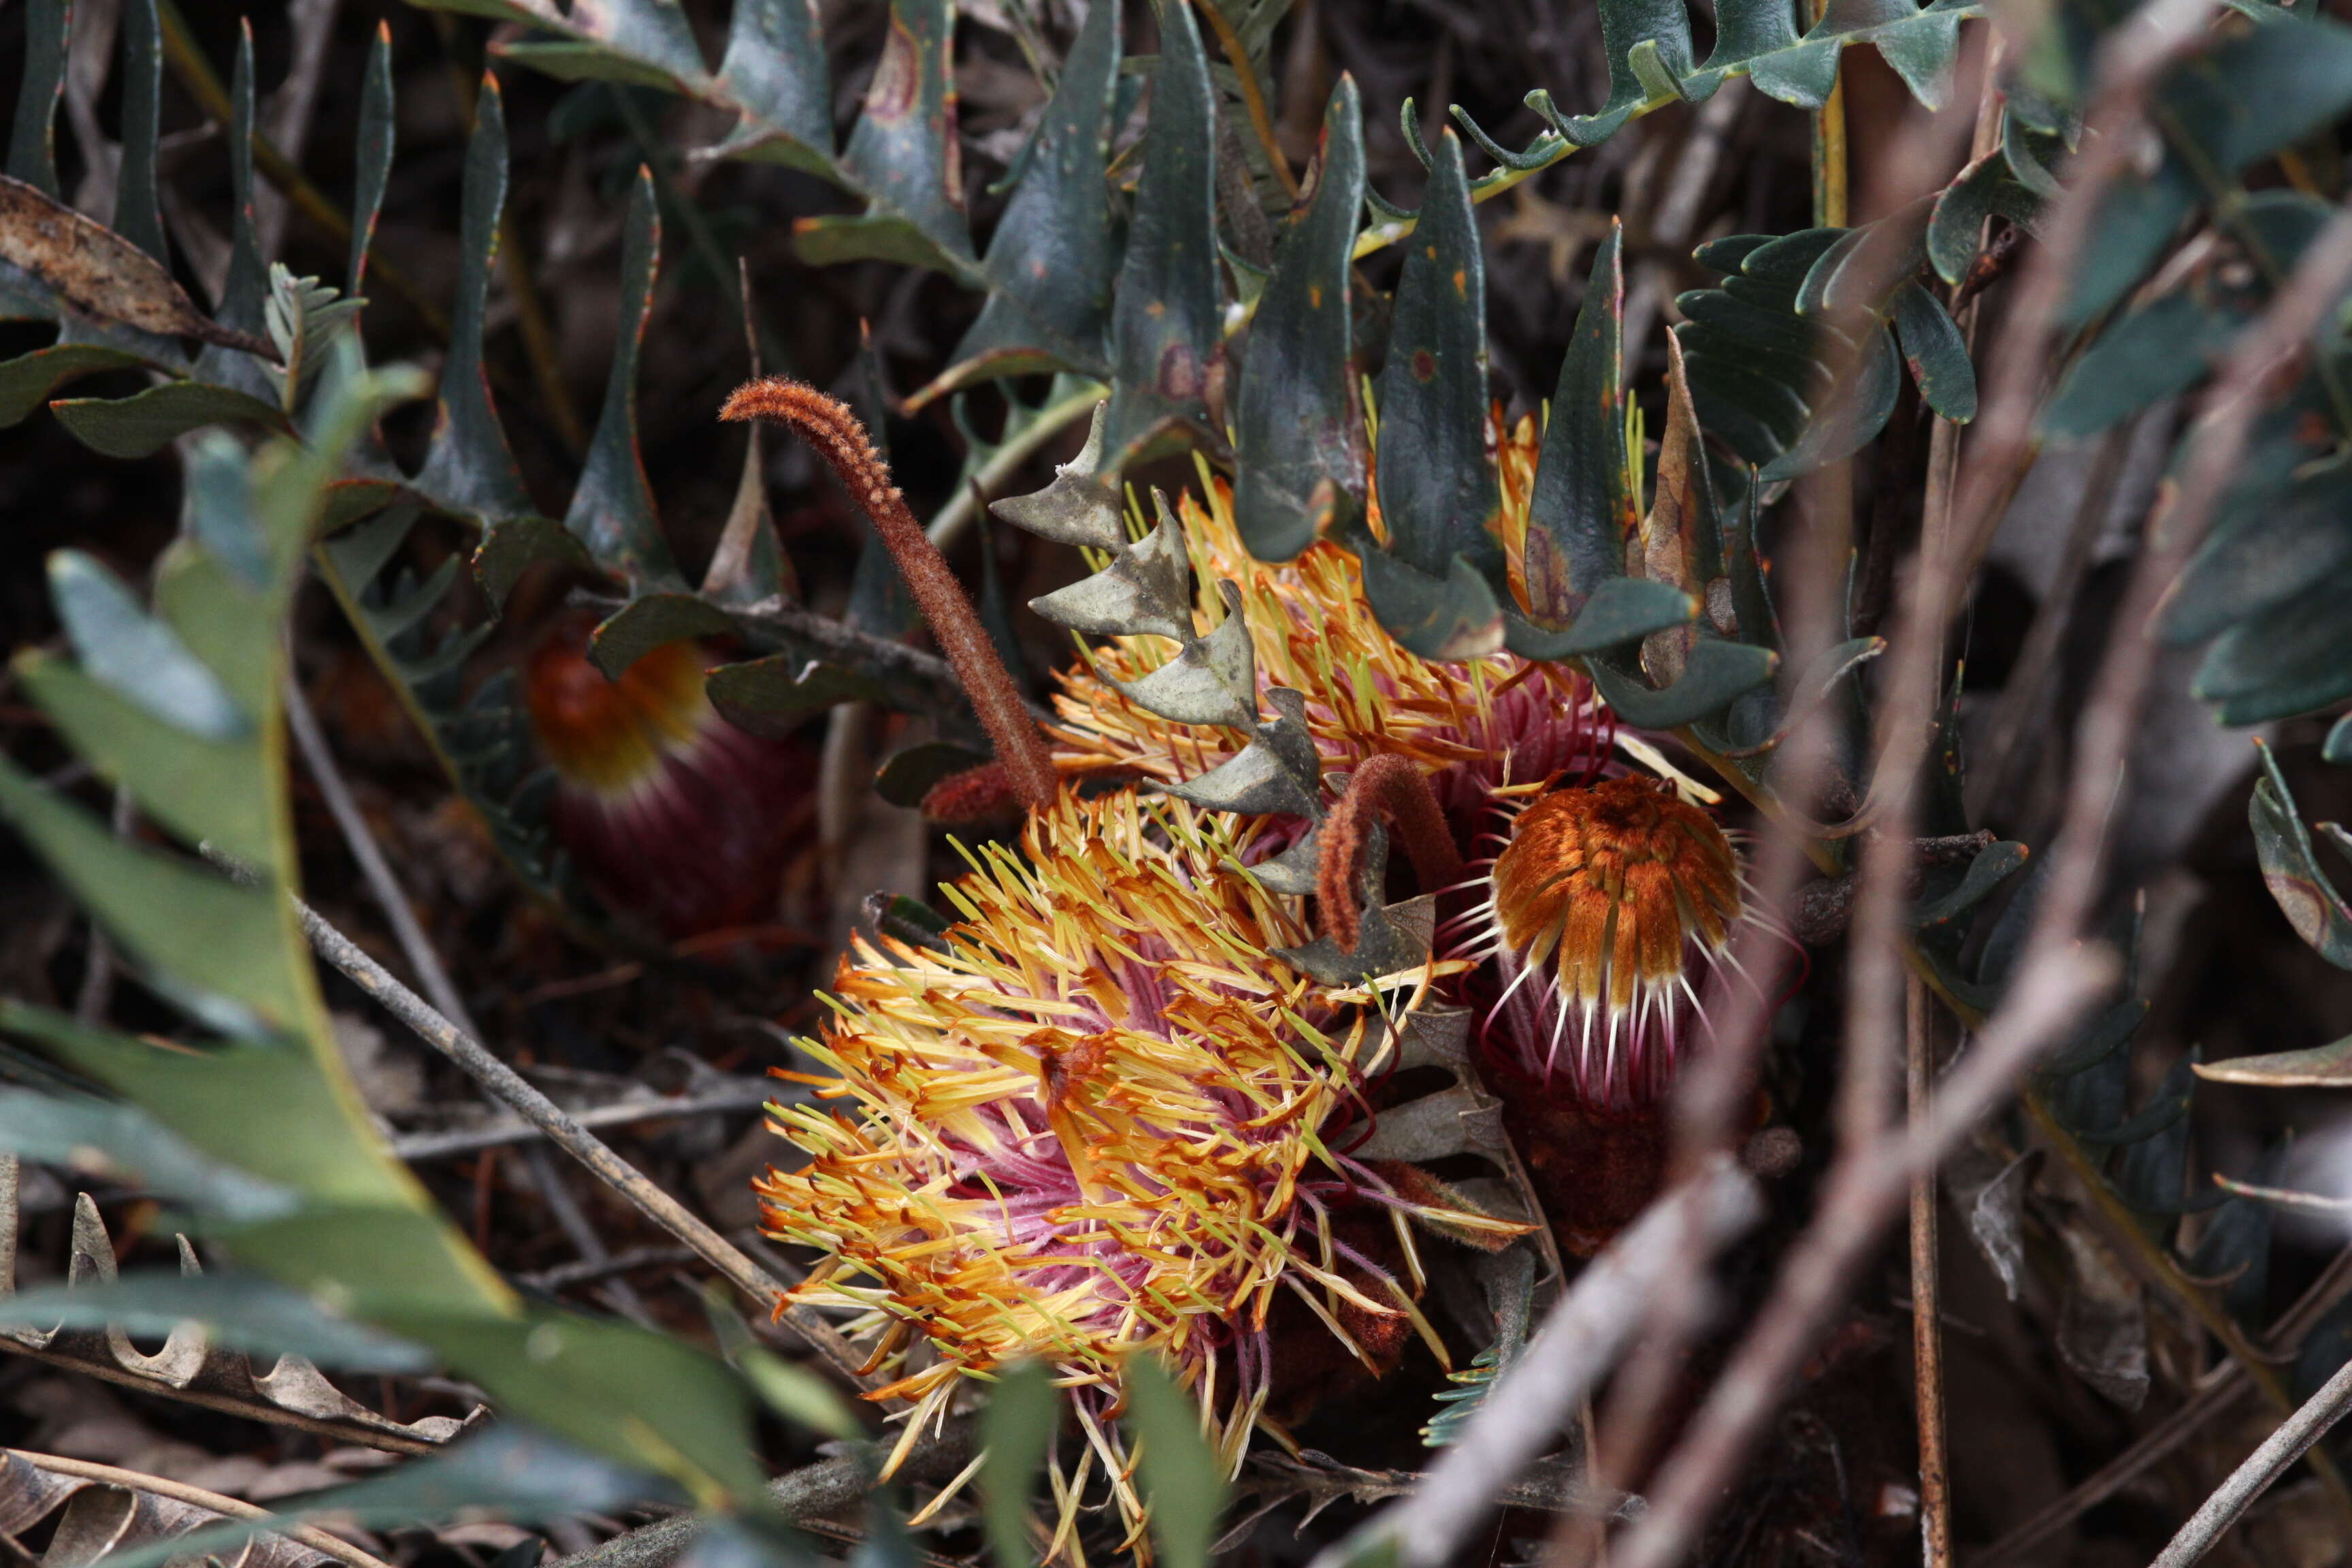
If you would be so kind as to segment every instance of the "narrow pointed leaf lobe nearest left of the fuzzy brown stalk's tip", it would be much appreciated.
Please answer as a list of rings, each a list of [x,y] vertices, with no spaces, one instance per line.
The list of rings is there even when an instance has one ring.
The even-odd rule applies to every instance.
[[[621,327],[614,331],[612,374],[604,378],[604,411],[588,442],[588,465],[564,529],[590,559],[640,592],[652,583],[677,583],[677,562],[654,515],[654,487],[637,454],[637,348],[654,313],[654,268],[661,261],[661,219],[654,212],[654,176],[637,169],[621,226]]]

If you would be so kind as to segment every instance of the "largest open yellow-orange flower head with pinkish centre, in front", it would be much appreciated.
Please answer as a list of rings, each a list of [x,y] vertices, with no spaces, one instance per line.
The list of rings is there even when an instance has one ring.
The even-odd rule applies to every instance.
[[[1371,1363],[1367,1326],[1425,1333],[1409,1220],[1522,1229],[1350,1159],[1383,1004],[1272,957],[1312,933],[1237,870],[1254,832],[1063,795],[1021,853],[978,851],[941,945],[858,943],[842,964],[840,1016],[809,1041],[835,1107],[774,1110],[809,1164],[757,1192],[769,1234],[828,1255],[793,1298],[866,1309],[896,1373],[875,1396],[915,1401],[910,1432],[960,1380],[1042,1356],[1117,1476],[1101,1418],[1122,1361],[1157,1352],[1237,1465],[1277,1305]]]

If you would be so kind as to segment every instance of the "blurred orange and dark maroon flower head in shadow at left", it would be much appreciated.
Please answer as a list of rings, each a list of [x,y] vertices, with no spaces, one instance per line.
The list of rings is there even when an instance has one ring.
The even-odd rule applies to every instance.
[[[583,628],[567,623],[522,679],[557,780],[557,844],[604,903],[668,938],[771,919],[814,816],[807,748],[722,719],[694,642],[654,649],[616,682],[583,649]]]

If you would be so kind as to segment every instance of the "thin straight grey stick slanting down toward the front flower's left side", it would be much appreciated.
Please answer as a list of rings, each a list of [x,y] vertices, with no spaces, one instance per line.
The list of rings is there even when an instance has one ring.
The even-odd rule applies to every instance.
[[[691,1246],[703,1262],[727,1276],[727,1284],[743,1291],[762,1309],[776,1307],[783,1295],[783,1281],[746,1258],[727,1237],[703,1225],[701,1218],[663,1192],[649,1175],[614,1154],[602,1138],[574,1121],[562,1105],[539,1093],[529,1079],[492,1056],[477,1039],[435,1013],[423,997],[393,978],[383,964],[360,952],[348,936],[320,919],[318,910],[301,898],[294,898],[294,914],[301,917],[301,929],[310,938],[310,947],[343,971],[353,985],[374,997],[383,1011],[409,1025],[416,1039],[447,1056],[473,1074],[482,1088],[522,1112],[550,1143],[635,1204],[644,1218]],[[849,1378],[856,1378],[866,1363],[866,1356],[851,1349],[849,1340],[833,1324],[807,1307],[786,1307],[776,1321],[807,1340],[816,1354]]]

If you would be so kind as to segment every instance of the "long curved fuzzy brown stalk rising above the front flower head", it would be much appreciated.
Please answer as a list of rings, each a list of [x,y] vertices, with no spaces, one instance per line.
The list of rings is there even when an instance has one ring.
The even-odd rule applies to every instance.
[[[1021,686],[1014,684],[997,646],[971,611],[962,583],[948,571],[948,559],[931,543],[931,536],[915,522],[906,496],[889,477],[889,465],[875,454],[866,437],[866,425],[840,400],[826,397],[804,381],[790,376],[762,376],[746,381],[727,397],[720,418],[764,418],[790,425],[816,456],[833,465],[849,496],[866,508],[898,574],[906,578],[922,618],[931,623],[938,649],[955,668],[964,696],[981,715],[981,726],[997,748],[1004,778],[1023,806],[1042,811],[1054,804],[1061,778],[1054,771],[1054,752],[1044,733],[1021,703]]]

